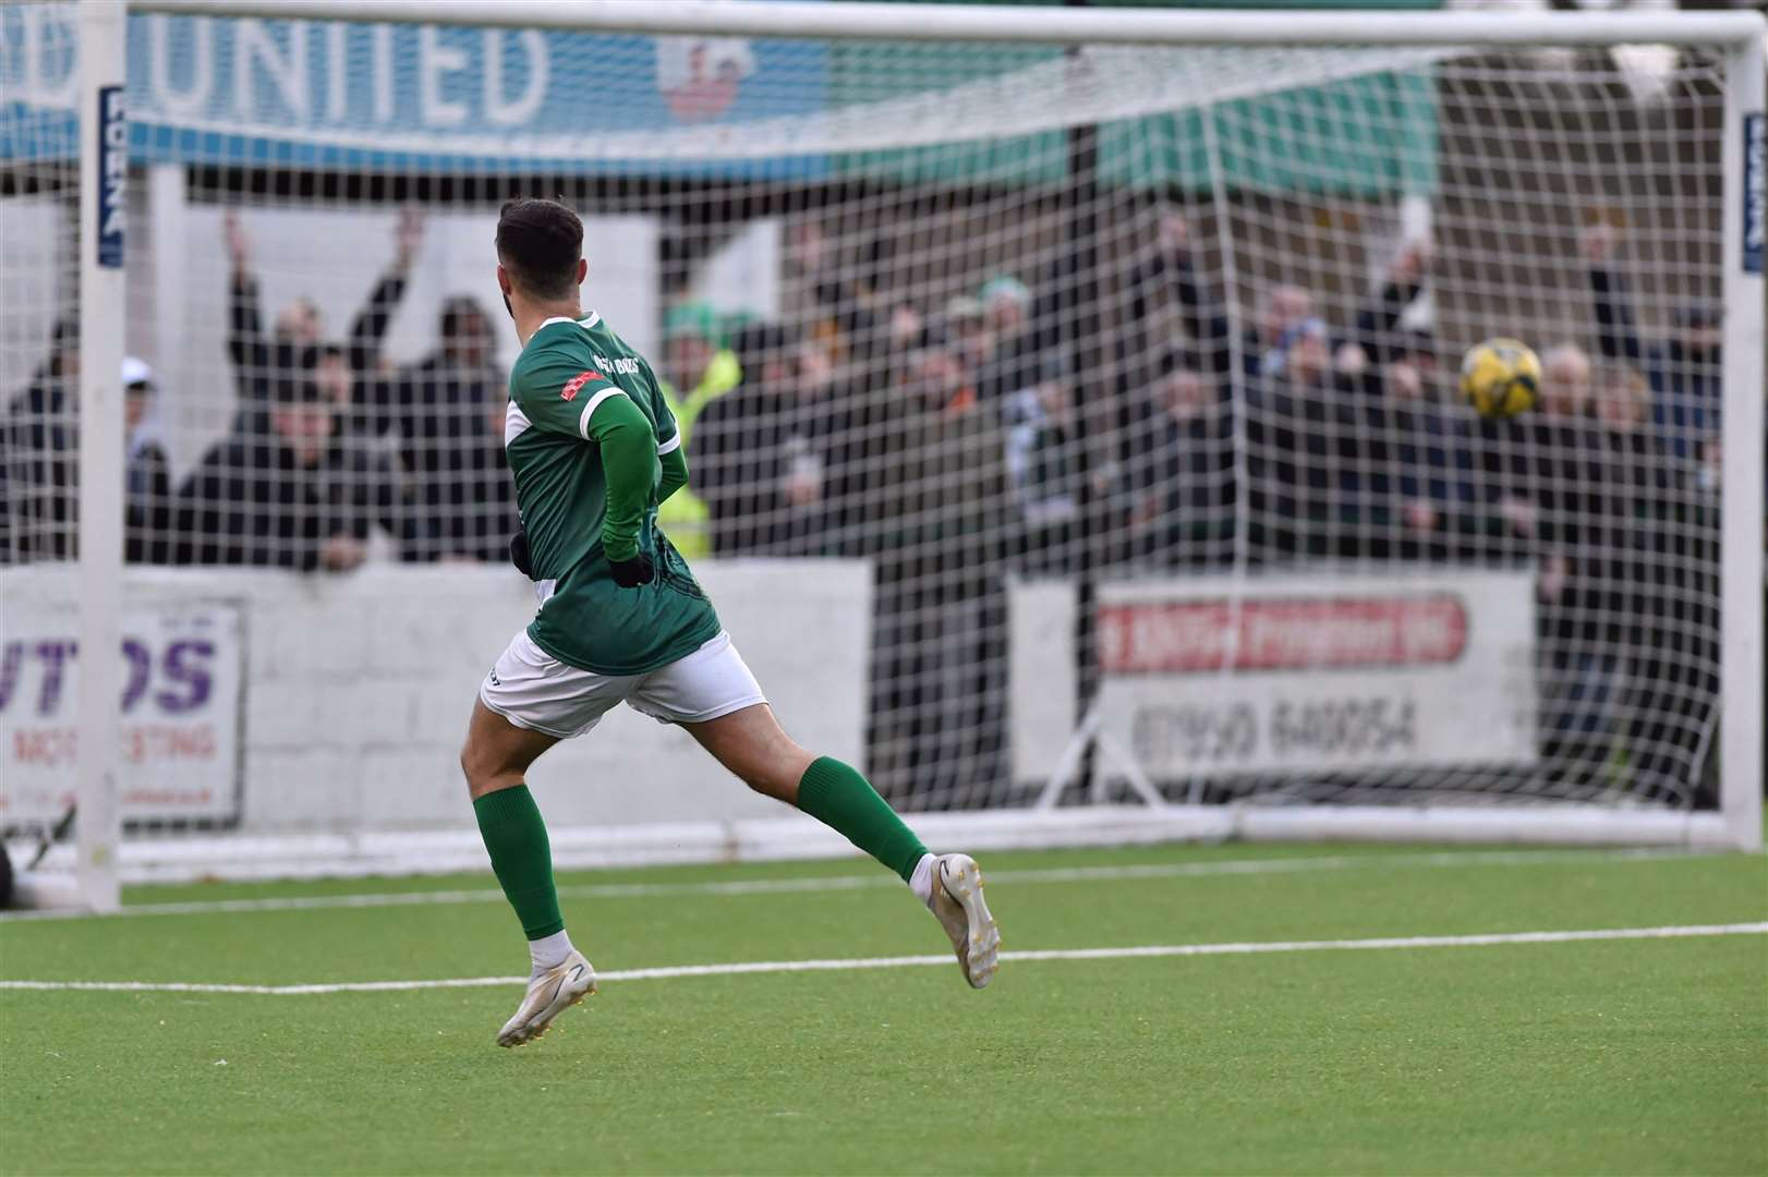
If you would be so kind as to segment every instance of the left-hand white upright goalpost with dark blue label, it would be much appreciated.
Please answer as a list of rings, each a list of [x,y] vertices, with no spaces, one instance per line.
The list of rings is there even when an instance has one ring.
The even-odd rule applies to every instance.
[[[118,907],[122,698],[124,269],[127,9],[80,5],[80,753],[81,903]]]

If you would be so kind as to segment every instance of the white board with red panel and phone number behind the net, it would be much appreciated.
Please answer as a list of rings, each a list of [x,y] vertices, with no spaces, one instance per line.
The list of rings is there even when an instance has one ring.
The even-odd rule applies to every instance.
[[[1015,638],[1034,633],[1040,617],[1054,633],[1064,599],[1071,610],[1071,592],[1027,585],[1015,601]],[[1536,755],[1528,573],[1107,581],[1096,640],[1100,732],[1153,778],[1529,763]],[[1024,654],[1015,645],[1015,760],[1022,776],[1036,776],[1050,728],[1064,726],[1050,693],[1071,689],[1073,672],[1052,680],[1061,654],[1047,643]]]

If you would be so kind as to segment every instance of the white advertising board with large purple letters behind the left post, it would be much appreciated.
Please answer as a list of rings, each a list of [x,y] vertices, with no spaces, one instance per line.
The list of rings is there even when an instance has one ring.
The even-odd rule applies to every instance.
[[[0,829],[39,827],[74,797],[80,619],[12,599],[0,620]],[[122,613],[126,822],[239,818],[244,622],[235,603]]]

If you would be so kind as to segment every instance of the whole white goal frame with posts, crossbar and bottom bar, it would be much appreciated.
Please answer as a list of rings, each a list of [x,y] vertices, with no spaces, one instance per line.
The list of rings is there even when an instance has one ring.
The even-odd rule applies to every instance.
[[[1743,269],[1745,117],[1764,110],[1768,18],[1759,12],[1282,12],[1002,9],[916,4],[720,4],[647,0],[592,4],[569,0],[470,0],[414,5],[410,0],[87,0],[81,7],[81,217],[95,216],[101,182],[95,159],[97,88],[122,81],[126,12],[272,19],[347,19],[622,34],[711,34],[734,37],[838,37],[854,41],[990,41],[1024,44],[1299,44],[1299,46],[1611,46],[1674,42],[1724,55],[1724,428],[1731,437],[1763,435],[1764,387],[1763,276]],[[1754,161],[1752,175],[1763,164]],[[1761,193],[1754,198],[1759,201]],[[1761,216],[1759,210],[1756,216]],[[81,242],[80,308],[83,341],[81,398],[87,406],[115,399],[110,382],[122,341],[122,270],[104,270],[95,242]],[[230,839],[207,859],[191,839],[150,847],[120,841],[117,811],[117,650],[120,613],[120,528],[111,523],[120,488],[120,414],[81,414],[81,760],[78,901],[117,905],[118,861],[131,877],[196,873],[301,873],[286,869],[309,854],[329,855],[334,873],[371,869],[454,869],[483,855],[470,838],[412,836],[410,845],[366,848],[348,839],[327,845],[265,847]],[[1720,649],[1722,702],[1720,808],[1710,813],[1612,809],[1595,806],[1080,806],[1043,811],[923,815],[925,832],[976,848],[1098,845],[1185,838],[1248,839],[1429,839],[1494,843],[1648,843],[1759,850],[1763,845],[1763,449],[1726,451],[1722,488]],[[103,521],[94,527],[94,521]],[[110,739],[106,739],[110,737]],[[704,829],[702,829],[704,825]],[[670,825],[668,831],[557,831],[560,866],[608,861],[796,857],[838,852],[833,839],[806,836],[796,816],[774,822]],[[755,827],[755,829],[748,829]],[[221,839],[216,839],[221,841]],[[251,847],[244,843],[251,841]],[[385,841],[385,838],[382,838]],[[332,845],[336,843],[336,845]],[[177,862],[186,862],[180,869]],[[228,871],[217,862],[232,862]],[[283,864],[281,868],[278,864]]]

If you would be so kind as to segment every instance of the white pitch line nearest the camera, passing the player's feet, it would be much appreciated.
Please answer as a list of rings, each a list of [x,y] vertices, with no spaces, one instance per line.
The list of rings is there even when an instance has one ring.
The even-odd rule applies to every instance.
[[[1494,947],[1506,944],[1579,944],[1586,940],[1667,940],[1681,937],[1745,937],[1768,933],[1768,923],[1671,924],[1664,928],[1588,928],[1575,931],[1492,931],[1464,937],[1367,937],[1360,940],[1248,940],[1231,944],[1146,944],[1101,949],[1031,949],[1001,953],[1002,961],[1132,960],[1153,956],[1255,956],[1268,953],[1345,953],[1384,949]],[[946,953],[934,956],[861,956],[854,960],[769,960],[725,965],[667,965],[615,968],[598,981],[668,981],[675,977],[728,977],[757,972],[852,972],[859,968],[949,967]],[[184,981],[0,981],[0,990],[76,993],[246,993],[258,997],[313,997],[320,993],[400,993],[408,990],[514,988],[527,977],[449,977],[440,981],[341,981],[336,984],[205,984]]]

